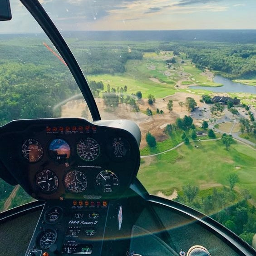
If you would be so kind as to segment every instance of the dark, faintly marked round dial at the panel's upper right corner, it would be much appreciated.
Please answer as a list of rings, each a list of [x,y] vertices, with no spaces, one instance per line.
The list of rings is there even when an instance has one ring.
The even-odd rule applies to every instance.
[[[107,153],[113,160],[121,161],[130,155],[131,147],[125,138],[117,137],[109,140]]]

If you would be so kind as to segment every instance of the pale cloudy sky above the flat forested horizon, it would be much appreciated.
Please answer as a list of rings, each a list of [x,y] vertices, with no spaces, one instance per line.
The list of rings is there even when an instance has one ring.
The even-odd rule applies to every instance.
[[[256,29],[256,0],[39,0],[59,30]],[[40,32],[19,0],[0,33]]]

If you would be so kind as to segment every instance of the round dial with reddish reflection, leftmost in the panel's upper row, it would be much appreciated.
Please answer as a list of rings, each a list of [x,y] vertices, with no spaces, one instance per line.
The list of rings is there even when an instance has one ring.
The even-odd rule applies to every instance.
[[[43,147],[36,139],[27,139],[21,146],[22,155],[29,162],[37,162],[43,157]]]

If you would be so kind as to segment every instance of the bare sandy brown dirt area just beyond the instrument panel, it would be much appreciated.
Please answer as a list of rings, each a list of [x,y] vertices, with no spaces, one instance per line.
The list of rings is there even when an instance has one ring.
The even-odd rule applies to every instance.
[[[99,109],[99,113],[102,119],[129,119],[138,124],[142,133],[142,140],[140,148],[146,146],[146,133],[150,132],[156,138],[157,141],[163,141],[167,138],[167,135],[164,133],[164,128],[168,123],[174,123],[176,118],[183,118],[185,115],[188,115],[186,106],[180,106],[179,102],[185,103],[187,97],[192,97],[197,102],[197,106],[201,106],[199,101],[201,96],[197,94],[188,94],[177,92],[171,96],[165,98],[158,98],[153,105],[148,104],[148,99],[144,98],[138,100],[138,106],[140,111],[145,112],[147,108],[150,108],[153,113],[162,109],[162,114],[153,114],[153,116],[148,116],[142,112],[133,112],[128,104],[119,104],[118,108],[115,108],[113,111],[109,111],[104,106],[102,98],[96,98],[96,103]],[[169,100],[173,101],[173,110],[169,111],[167,108],[167,103]],[[83,100],[72,100],[62,106],[62,117],[82,117],[83,110],[86,109],[86,104]],[[89,120],[89,116],[86,117]]]

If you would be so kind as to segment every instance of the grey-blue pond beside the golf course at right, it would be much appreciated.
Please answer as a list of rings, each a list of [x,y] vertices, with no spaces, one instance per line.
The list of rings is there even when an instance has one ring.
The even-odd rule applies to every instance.
[[[246,84],[240,84],[232,82],[230,79],[224,78],[222,76],[215,76],[213,81],[218,84],[223,84],[223,86],[219,87],[211,87],[211,86],[189,86],[189,89],[205,89],[212,92],[217,93],[249,93],[256,94],[256,86],[250,86]]]

